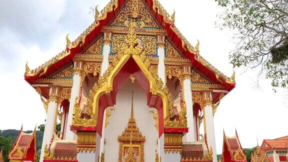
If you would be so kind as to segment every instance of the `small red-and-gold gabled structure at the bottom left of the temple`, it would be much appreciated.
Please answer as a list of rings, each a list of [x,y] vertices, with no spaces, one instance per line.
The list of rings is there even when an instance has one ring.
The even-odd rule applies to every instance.
[[[21,127],[16,140],[9,151],[8,159],[10,159],[10,162],[36,160],[36,127],[31,133],[23,132],[23,127]]]

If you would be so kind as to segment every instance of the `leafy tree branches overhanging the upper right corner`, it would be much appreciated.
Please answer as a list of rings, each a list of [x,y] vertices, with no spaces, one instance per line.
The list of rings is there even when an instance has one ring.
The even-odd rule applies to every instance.
[[[235,31],[230,63],[260,67],[273,87],[288,85],[288,0],[215,0],[220,28]]]

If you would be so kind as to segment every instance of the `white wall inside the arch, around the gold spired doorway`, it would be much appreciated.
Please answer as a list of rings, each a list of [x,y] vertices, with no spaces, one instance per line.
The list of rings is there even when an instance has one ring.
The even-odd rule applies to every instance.
[[[119,156],[118,135],[122,134],[127,126],[131,110],[131,96],[134,91],[134,117],[136,124],[145,136],[144,161],[155,161],[155,149],[157,148],[158,132],[154,126],[155,120],[146,102],[146,95],[137,81],[131,83],[128,79],[121,87],[116,96],[116,104],[111,116],[108,118],[109,124],[105,128],[105,161],[117,161]]]

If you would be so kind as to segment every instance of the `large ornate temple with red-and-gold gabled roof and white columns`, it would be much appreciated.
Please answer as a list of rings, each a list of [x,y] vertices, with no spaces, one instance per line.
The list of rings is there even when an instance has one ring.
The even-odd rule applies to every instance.
[[[234,73],[206,61],[174,16],[158,0],[111,0],[63,51],[26,64],[47,113],[40,161],[217,161],[213,116]]]

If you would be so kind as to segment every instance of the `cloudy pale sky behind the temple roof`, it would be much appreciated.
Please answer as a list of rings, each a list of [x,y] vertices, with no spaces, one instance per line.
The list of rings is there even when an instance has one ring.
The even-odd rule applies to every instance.
[[[159,0],[174,9],[175,25],[192,43],[200,41],[200,54],[227,76],[234,43],[232,32],[215,27],[219,12],[214,0]],[[92,21],[90,7],[108,0],[0,0],[0,129],[25,130],[44,123],[45,111],[35,90],[23,79],[25,62],[33,69],[65,47],[65,35],[76,38]],[[257,70],[235,69],[236,87],[226,95],[214,116],[217,153],[223,129],[237,129],[242,147],[262,139],[288,135],[287,90],[273,92],[270,80],[257,85]]]

